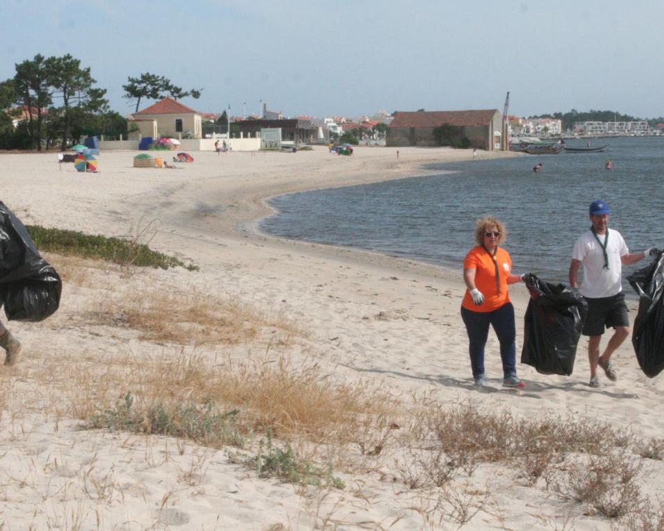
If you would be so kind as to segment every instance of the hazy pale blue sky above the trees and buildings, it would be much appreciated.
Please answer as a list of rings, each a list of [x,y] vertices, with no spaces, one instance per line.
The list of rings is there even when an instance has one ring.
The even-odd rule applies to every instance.
[[[151,72],[202,112],[572,108],[664,115],[662,0],[2,0],[0,76],[71,53],[108,90]],[[244,103],[246,102],[246,106]],[[152,102],[147,102],[152,103]],[[147,105],[146,103],[146,105]],[[142,105],[142,108],[144,106]]]

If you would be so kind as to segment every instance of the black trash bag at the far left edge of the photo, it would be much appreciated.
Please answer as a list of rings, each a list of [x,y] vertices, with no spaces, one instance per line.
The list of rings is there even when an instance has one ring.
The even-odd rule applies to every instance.
[[[42,321],[58,310],[63,284],[25,226],[0,201],[0,295],[10,321]]]

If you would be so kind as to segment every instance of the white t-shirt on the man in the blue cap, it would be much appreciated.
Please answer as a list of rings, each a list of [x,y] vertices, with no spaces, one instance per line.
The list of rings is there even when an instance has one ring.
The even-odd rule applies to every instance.
[[[629,249],[617,230],[613,230],[613,228],[607,230],[606,255],[608,269],[604,267],[604,252],[602,252],[601,245],[597,242],[592,230],[583,233],[574,244],[572,258],[583,264],[583,282],[579,289],[584,297],[611,297],[622,291],[622,262],[620,257],[629,253]],[[597,237],[604,244],[606,235],[601,234]]]

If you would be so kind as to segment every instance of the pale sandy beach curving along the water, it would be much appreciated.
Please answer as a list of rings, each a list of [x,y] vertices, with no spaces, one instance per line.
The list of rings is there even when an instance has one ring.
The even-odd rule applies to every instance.
[[[131,391],[109,376],[115,369],[128,371],[126,382],[139,381],[138,372],[153,363],[200,356],[210,366],[281,358],[294,371],[316,366],[325,378],[404,403],[508,411],[518,419],[561,416],[608,423],[646,440],[661,437],[664,420],[656,410],[664,383],[645,377],[629,341],[613,357],[618,380],[601,375],[599,389],[588,387],[581,339],[572,376],[544,376],[519,364],[526,388],[505,391],[491,334],[489,387],[478,391],[459,315],[460,270],[256,230],[258,219],[272,213],[265,203],[272,196],[425,175],[424,164],[472,159],[471,150],[400,148],[398,159],[395,151],[202,152],[179,169],[133,168],[135,152],[103,152],[99,174],[60,166],[56,153],[1,154],[0,200],[24,224],[149,240],[156,251],[200,269],[133,270],[47,255],[65,278],[60,310],[42,323],[8,323],[24,349],[17,366],[0,369],[0,530],[611,529],[607,516],[556,495],[545,478],[529,484],[509,462],[481,462],[472,474],[460,473],[451,482],[454,495],[409,488],[399,473],[399,463],[413,455],[399,444],[408,432],[404,419],[388,423],[397,436],[379,455],[363,450],[363,466],[335,467],[345,489],[327,490],[259,478],[224,448],[80,428],[95,405],[108,407]],[[513,154],[478,154],[490,156]],[[472,228],[474,219],[467,223]],[[518,264],[515,270],[527,272]],[[254,331],[237,341],[219,339],[223,331],[216,329],[217,336],[200,340],[200,330],[191,332],[195,323],[183,329],[189,342],[155,339],[127,326],[117,310],[137,294],[155,293],[173,295],[165,302],[171,307],[181,298],[211,296],[263,317],[245,319],[244,332]],[[511,298],[519,357],[523,285],[511,288]],[[654,501],[664,487],[661,460],[644,460],[640,473],[642,496]],[[470,519],[458,516],[459,507]]]

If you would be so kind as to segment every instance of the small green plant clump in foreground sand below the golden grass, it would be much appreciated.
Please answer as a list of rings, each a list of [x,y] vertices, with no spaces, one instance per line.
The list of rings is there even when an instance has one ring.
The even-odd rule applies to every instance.
[[[267,441],[260,439],[258,455],[247,457],[244,464],[256,469],[260,478],[280,478],[288,483],[315,487],[345,488],[344,482],[332,474],[331,468],[324,472],[313,466],[299,457],[290,444],[284,448],[275,446],[270,428],[267,428]]]

